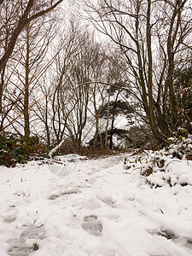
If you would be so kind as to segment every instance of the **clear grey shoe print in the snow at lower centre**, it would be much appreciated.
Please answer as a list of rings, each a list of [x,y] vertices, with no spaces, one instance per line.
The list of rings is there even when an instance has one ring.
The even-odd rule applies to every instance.
[[[81,226],[92,236],[102,236],[102,222],[96,215],[85,216]]]

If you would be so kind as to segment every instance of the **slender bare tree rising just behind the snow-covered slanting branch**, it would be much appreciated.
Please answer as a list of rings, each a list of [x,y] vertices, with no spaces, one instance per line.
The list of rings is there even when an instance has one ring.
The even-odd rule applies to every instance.
[[[60,37],[58,49],[61,49],[61,51],[55,57],[55,71],[50,81],[53,84],[51,97],[52,125],[57,144],[61,143],[64,137],[68,117],[74,108],[73,94],[69,88],[68,80],[72,75],[73,61],[77,55],[79,44],[76,44],[77,41],[74,39],[73,26],[69,29],[68,34],[65,36],[63,33]]]

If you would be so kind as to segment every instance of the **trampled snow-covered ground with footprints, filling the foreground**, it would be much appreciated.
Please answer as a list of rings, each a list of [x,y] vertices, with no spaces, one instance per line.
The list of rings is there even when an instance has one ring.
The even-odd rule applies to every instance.
[[[0,166],[0,256],[192,255],[192,161],[137,158]]]

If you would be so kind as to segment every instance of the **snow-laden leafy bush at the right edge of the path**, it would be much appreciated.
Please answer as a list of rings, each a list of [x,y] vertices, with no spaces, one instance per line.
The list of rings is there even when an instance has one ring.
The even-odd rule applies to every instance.
[[[151,188],[166,184],[170,187],[192,185],[192,173],[189,160],[192,160],[192,136],[178,129],[174,137],[166,141],[166,148],[156,151],[143,151],[130,160],[125,158],[124,168],[129,172],[140,169],[140,175]],[[171,163],[177,165],[170,167]],[[125,172],[126,173],[126,172]]]

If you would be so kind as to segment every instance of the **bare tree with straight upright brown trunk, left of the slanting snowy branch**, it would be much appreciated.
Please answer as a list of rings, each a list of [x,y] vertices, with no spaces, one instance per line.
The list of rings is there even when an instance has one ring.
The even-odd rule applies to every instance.
[[[20,64],[15,75],[19,78],[20,84],[23,84],[23,88],[22,86],[19,88],[23,95],[21,110],[24,116],[25,136],[30,135],[30,105],[35,100],[32,99],[31,101],[30,96],[32,93],[38,95],[36,87],[41,83],[38,73],[46,65],[47,50],[56,31],[55,20],[50,18],[49,20],[41,19],[31,22],[21,33],[25,43],[24,49],[19,51],[21,57],[18,61]]]

